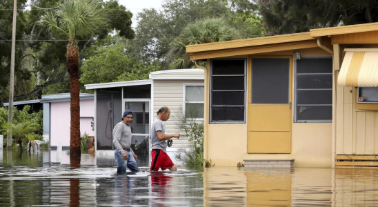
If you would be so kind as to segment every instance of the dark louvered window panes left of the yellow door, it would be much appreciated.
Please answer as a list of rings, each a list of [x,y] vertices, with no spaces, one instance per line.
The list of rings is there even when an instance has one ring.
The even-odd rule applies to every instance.
[[[246,59],[212,60],[210,122],[245,121]]]

